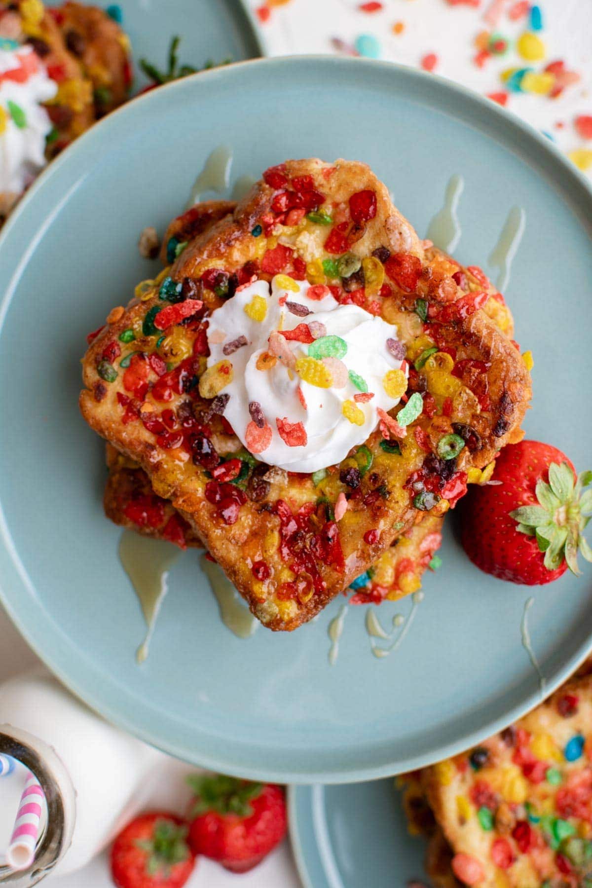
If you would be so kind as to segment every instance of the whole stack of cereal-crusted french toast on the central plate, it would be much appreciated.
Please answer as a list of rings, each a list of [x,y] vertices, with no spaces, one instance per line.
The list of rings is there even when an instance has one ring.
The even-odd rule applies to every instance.
[[[82,413],[108,442],[107,516],[205,547],[272,630],[296,629],[350,588],[376,603],[419,589],[446,511],[522,435],[531,380],[501,294],[478,266],[422,242],[366,164],[343,160],[280,163],[237,204],[198,203],[170,223],[161,258],[160,274],[114,307],[83,359]],[[257,369],[280,367],[286,385],[300,375],[304,414],[306,385],[351,385],[343,422],[376,416],[363,413],[374,393],[358,374],[337,382],[335,357],[311,376],[321,351],[306,344],[319,323],[295,292],[301,303],[358,306],[392,331],[406,379],[399,400],[335,464],[293,472],[266,462],[276,424],[294,448],[305,438],[302,424],[264,415],[265,404],[249,402],[250,438],[225,417],[233,350],[250,342],[229,331],[228,357],[214,364],[212,330],[249,287],[264,294],[245,307],[249,322],[257,298],[264,317],[267,293],[284,288],[280,305],[295,306]]]

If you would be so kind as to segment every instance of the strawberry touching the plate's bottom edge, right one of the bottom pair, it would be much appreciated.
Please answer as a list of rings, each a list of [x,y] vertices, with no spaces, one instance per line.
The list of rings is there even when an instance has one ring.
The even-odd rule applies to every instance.
[[[195,794],[189,828],[194,853],[245,873],[286,835],[286,802],[279,786],[222,775],[188,782]]]

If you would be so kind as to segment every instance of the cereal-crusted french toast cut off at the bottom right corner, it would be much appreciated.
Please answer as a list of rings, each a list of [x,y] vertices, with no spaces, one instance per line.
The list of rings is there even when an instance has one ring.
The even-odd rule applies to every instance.
[[[586,886],[592,880],[591,743],[588,665],[515,725],[411,775],[407,815],[412,831],[430,836],[434,884]],[[416,816],[418,786],[432,818]]]

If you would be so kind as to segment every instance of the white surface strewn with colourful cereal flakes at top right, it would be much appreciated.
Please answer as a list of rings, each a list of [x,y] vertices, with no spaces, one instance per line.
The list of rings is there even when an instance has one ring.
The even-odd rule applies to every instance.
[[[592,181],[592,0],[249,0],[269,55],[423,67],[489,96]]]

